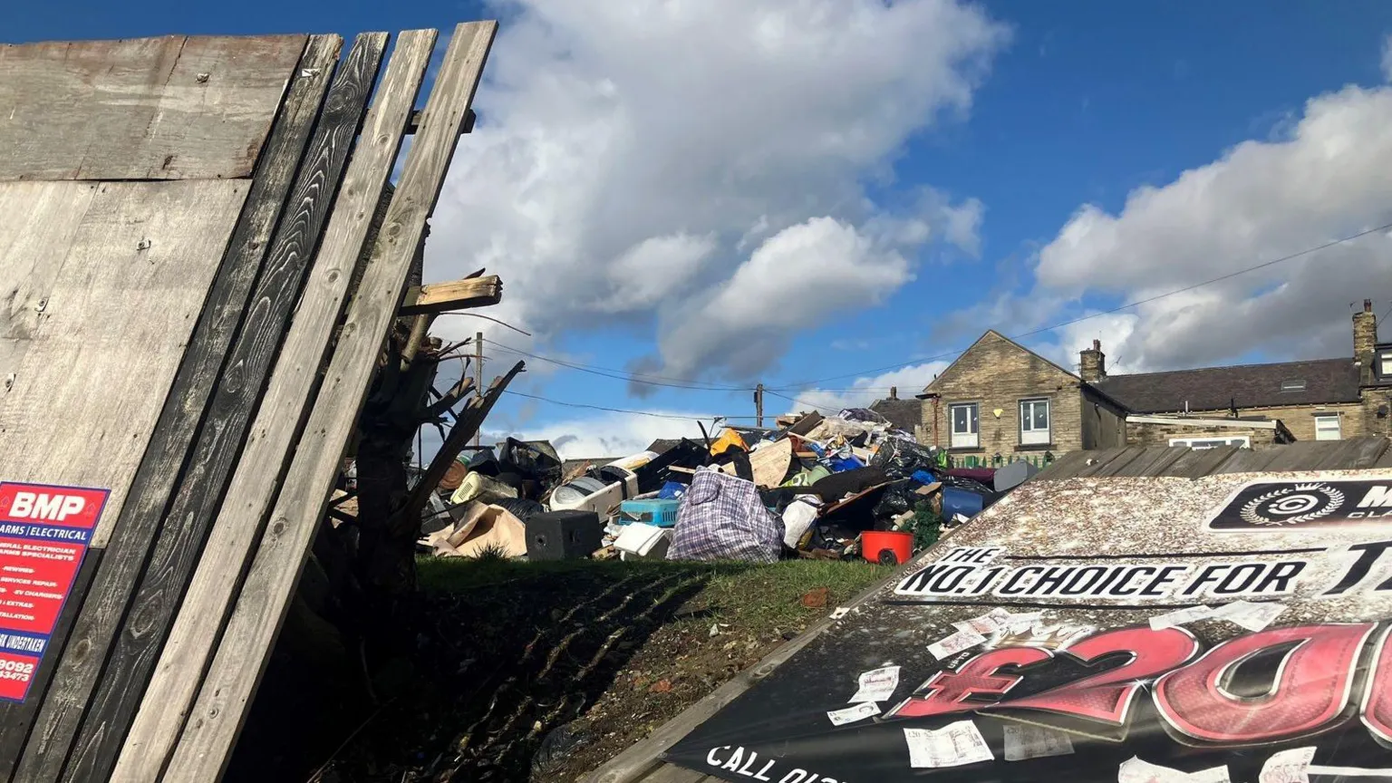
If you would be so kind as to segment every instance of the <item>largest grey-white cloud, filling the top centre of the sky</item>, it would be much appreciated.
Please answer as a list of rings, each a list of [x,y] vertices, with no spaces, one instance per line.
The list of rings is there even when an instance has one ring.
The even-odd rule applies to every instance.
[[[977,252],[980,202],[926,201],[889,235],[862,185],[888,181],[913,134],[969,111],[1008,38],[976,4],[516,0],[494,11],[504,24],[480,118],[436,208],[427,276],[503,274],[490,315],[543,344],[657,322],[654,366],[750,373],[825,316],[770,319],[724,294],[763,283],[775,254],[789,281],[807,274],[809,259],[784,252],[792,240],[883,287],[860,287],[848,308],[909,280],[928,237]],[[735,307],[702,309],[722,295]],[[672,337],[678,312],[718,319],[720,337],[686,348]],[[728,351],[739,333],[757,347]]]

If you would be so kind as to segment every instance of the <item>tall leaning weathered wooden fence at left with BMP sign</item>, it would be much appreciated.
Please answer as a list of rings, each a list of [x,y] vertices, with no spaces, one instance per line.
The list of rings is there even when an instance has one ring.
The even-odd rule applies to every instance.
[[[0,782],[221,776],[496,29],[0,46]]]

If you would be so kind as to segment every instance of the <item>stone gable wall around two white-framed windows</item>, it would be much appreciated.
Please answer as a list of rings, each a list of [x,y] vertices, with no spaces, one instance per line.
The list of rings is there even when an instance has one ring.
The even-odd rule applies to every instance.
[[[1052,451],[1062,454],[1083,447],[1079,379],[1016,346],[995,332],[987,332],[956,362],[926,389],[938,394],[923,404],[923,442],[949,446],[951,405],[979,405],[979,446],[954,450],[954,457],[1009,457],[1016,453]],[[1020,444],[1020,400],[1045,398],[1050,403],[1050,443]],[[995,415],[995,411],[1001,411]]]

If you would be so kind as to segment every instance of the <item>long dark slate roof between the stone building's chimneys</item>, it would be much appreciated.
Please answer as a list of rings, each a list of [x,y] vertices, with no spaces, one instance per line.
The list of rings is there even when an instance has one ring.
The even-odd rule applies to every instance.
[[[1282,385],[1304,380],[1299,390]],[[1359,401],[1359,368],[1352,359],[1251,364],[1114,375],[1093,383],[1133,414],[1320,405]]]

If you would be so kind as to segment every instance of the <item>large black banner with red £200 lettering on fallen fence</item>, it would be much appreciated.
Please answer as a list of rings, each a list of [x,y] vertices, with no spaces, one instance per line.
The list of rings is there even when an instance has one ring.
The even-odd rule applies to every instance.
[[[1392,471],[1030,482],[667,761],[725,780],[1392,782]]]

